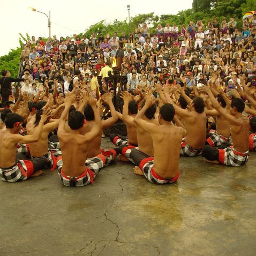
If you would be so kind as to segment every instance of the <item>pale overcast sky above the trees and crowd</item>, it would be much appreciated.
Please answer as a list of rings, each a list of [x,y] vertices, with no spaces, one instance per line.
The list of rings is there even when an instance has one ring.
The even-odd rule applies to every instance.
[[[28,9],[29,6],[47,13],[51,11],[51,36],[73,35],[82,33],[90,25],[106,19],[125,20],[128,17],[127,5],[131,6],[130,16],[140,13],[154,12],[155,14],[176,14],[178,11],[192,7],[193,0],[161,0],[156,1],[54,1],[54,0],[9,0],[2,2],[0,15],[2,40],[0,43],[0,56],[8,54],[10,49],[19,46],[19,33],[30,36],[48,36],[48,21],[44,14]],[[4,40],[5,39],[5,40]]]

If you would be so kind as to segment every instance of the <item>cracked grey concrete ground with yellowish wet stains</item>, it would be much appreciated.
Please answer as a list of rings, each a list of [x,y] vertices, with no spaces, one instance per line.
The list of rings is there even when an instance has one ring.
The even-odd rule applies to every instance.
[[[86,187],[49,170],[0,182],[0,255],[255,255],[255,166],[256,153],[240,168],[182,157],[160,186],[117,159]]]

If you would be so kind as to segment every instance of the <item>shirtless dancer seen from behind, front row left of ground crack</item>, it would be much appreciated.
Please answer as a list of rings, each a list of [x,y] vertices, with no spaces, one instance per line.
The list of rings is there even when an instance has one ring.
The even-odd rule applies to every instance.
[[[92,141],[100,132],[101,119],[96,108],[96,99],[89,96],[88,102],[91,105],[95,117],[95,127],[86,134],[81,134],[84,126],[84,115],[80,111],[70,110],[75,101],[75,94],[67,94],[65,98],[65,108],[58,126],[58,138],[62,148],[62,156],[57,158],[57,169],[61,182],[65,186],[85,186],[93,183],[95,176],[104,167],[112,162],[118,149],[109,149],[111,155],[99,154],[89,160],[87,159],[88,143]],[[65,120],[69,113],[68,124],[70,132],[65,131]]]

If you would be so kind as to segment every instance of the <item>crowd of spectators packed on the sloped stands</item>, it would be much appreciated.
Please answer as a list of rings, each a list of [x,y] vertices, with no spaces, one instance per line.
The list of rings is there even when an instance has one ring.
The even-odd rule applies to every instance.
[[[25,81],[21,82],[21,92],[36,95],[39,85],[45,84],[50,90],[55,85],[58,92],[66,94],[74,76],[79,77],[81,86],[93,90],[91,79],[105,66],[111,70],[114,57],[120,72],[127,76],[130,90],[184,81],[192,89],[192,85],[206,85],[217,73],[221,88],[227,91],[236,88],[234,76],[255,85],[255,47],[256,15],[251,22],[245,19],[243,27],[237,27],[230,18],[220,23],[216,19],[207,24],[191,21],[181,27],[159,24],[154,33],[144,23],[129,35],[124,31],[93,33],[89,38],[74,34],[57,39],[54,35],[46,42],[32,36],[22,50],[20,78]],[[108,72],[102,72],[102,78],[106,76]]]

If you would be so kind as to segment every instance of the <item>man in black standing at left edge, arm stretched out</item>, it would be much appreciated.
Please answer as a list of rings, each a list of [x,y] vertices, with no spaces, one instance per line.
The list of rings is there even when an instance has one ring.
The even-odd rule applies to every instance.
[[[11,94],[11,82],[22,82],[24,78],[12,78],[11,74],[7,70],[2,70],[2,77],[0,78],[1,95],[2,95],[2,107],[4,103],[9,100]]]

